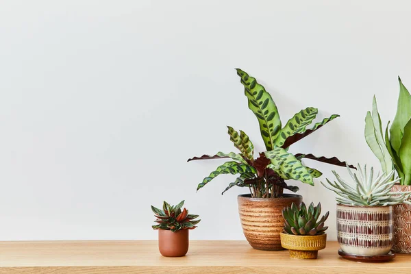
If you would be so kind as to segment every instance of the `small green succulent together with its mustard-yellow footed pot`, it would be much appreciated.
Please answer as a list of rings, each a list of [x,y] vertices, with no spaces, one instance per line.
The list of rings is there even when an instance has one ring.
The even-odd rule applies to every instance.
[[[316,259],[319,250],[325,249],[327,234],[324,226],[329,212],[319,219],[321,214],[321,203],[314,206],[310,203],[307,208],[305,203],[297,207],[292,203],[290,207],[284,208],[284,232],[280,234],[281,245],[290,250],[290,258]]]

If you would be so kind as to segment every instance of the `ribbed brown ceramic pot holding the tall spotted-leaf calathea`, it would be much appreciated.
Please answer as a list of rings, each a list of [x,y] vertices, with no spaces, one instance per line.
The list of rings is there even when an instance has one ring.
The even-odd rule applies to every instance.
[[[238,195],[238,212],[242,232],[254,249],[282,250],[279,234],[284,227],[282,210],[299,205],[301,195],[284,194],[282,198],[251,198],[251,195]]]

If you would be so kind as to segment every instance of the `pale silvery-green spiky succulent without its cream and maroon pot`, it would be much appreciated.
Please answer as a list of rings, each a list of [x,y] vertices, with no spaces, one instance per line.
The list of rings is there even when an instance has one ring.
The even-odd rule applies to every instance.
[[[349,206],[394,206],[403,202],[409,203],[406,200],[410,197],[411,192],[391,191],[395,182],[398,182],[398,179],[391,179],[394,171],[381,175],[378,173],[374,177],[374,169],[371,167],[368,173],[366,165],[361,168],[358,164],[358,173],[353,173],[348,166],[347,170],[353,184],[346,182],[336,171],[332,171],[332,173],[337,181],[330,182],[329,179],[326,179],[329,186],[321,182],[325,188],[340,196],[336,197],[338,203]]]

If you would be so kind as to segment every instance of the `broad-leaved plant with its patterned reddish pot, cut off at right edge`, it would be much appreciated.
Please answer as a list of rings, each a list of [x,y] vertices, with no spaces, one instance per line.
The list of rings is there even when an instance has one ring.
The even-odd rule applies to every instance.
[[[399,184],[394,192],[411,191],[411,95],[399,79],[397,114],[393,124],[390,121],[383,136],[377,101],[373,99],[373,110],[366,114],[365,138],[373,153],[379,159],[383,171],[393,169],[399,175]],[[389,129],[389,130],[388,130]],[[394,175],[392,176],[392,178]],[[394,207],[394,245],[399,253],[411,253],[411,204],[401,203]]]

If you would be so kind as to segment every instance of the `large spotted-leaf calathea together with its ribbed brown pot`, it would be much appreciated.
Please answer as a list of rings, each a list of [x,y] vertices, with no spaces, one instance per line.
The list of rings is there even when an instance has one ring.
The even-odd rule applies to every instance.
[[[221,164],[197,186],[197,190],[206,186],[212,179],[221,174],[238,175],[236,180],[229,184],[223,193],[233,186],[247,187],[250,193],[238,196],[238,212],[242,229],[251,247],[262,250],[282,249],[279,234],[282,232],[282,209],[291,203],[299,204],[301,195],[285,194],[284,188],[292,192],[299,190],[297,186],[289,186],[286,180],[295,179],[313,185],[313,178],[321,176],[321,172],[311,169],[301,162],[303,158],[345,166],[337,158],[316,157],[312,154],[291,153],[290,145],[312,134],[323,125],[336,119],[334,114],[308,126],[314,121],[318,110],[306,108],[301,110],[282,126],[279,119],[277,105],[264,86],[258,84],[256,78],[249,76],[245,71],[237,69],[240,82],[245,88],[249,109],[256,115],[260,125],[260,133],[266,151],[254,158],[254,145],[249,136],[241,130],[237,132],[228,127],[230,140],[239,153],[218,152],[215,155],[202,155],[188,159],[206,160],[230,158]]]

